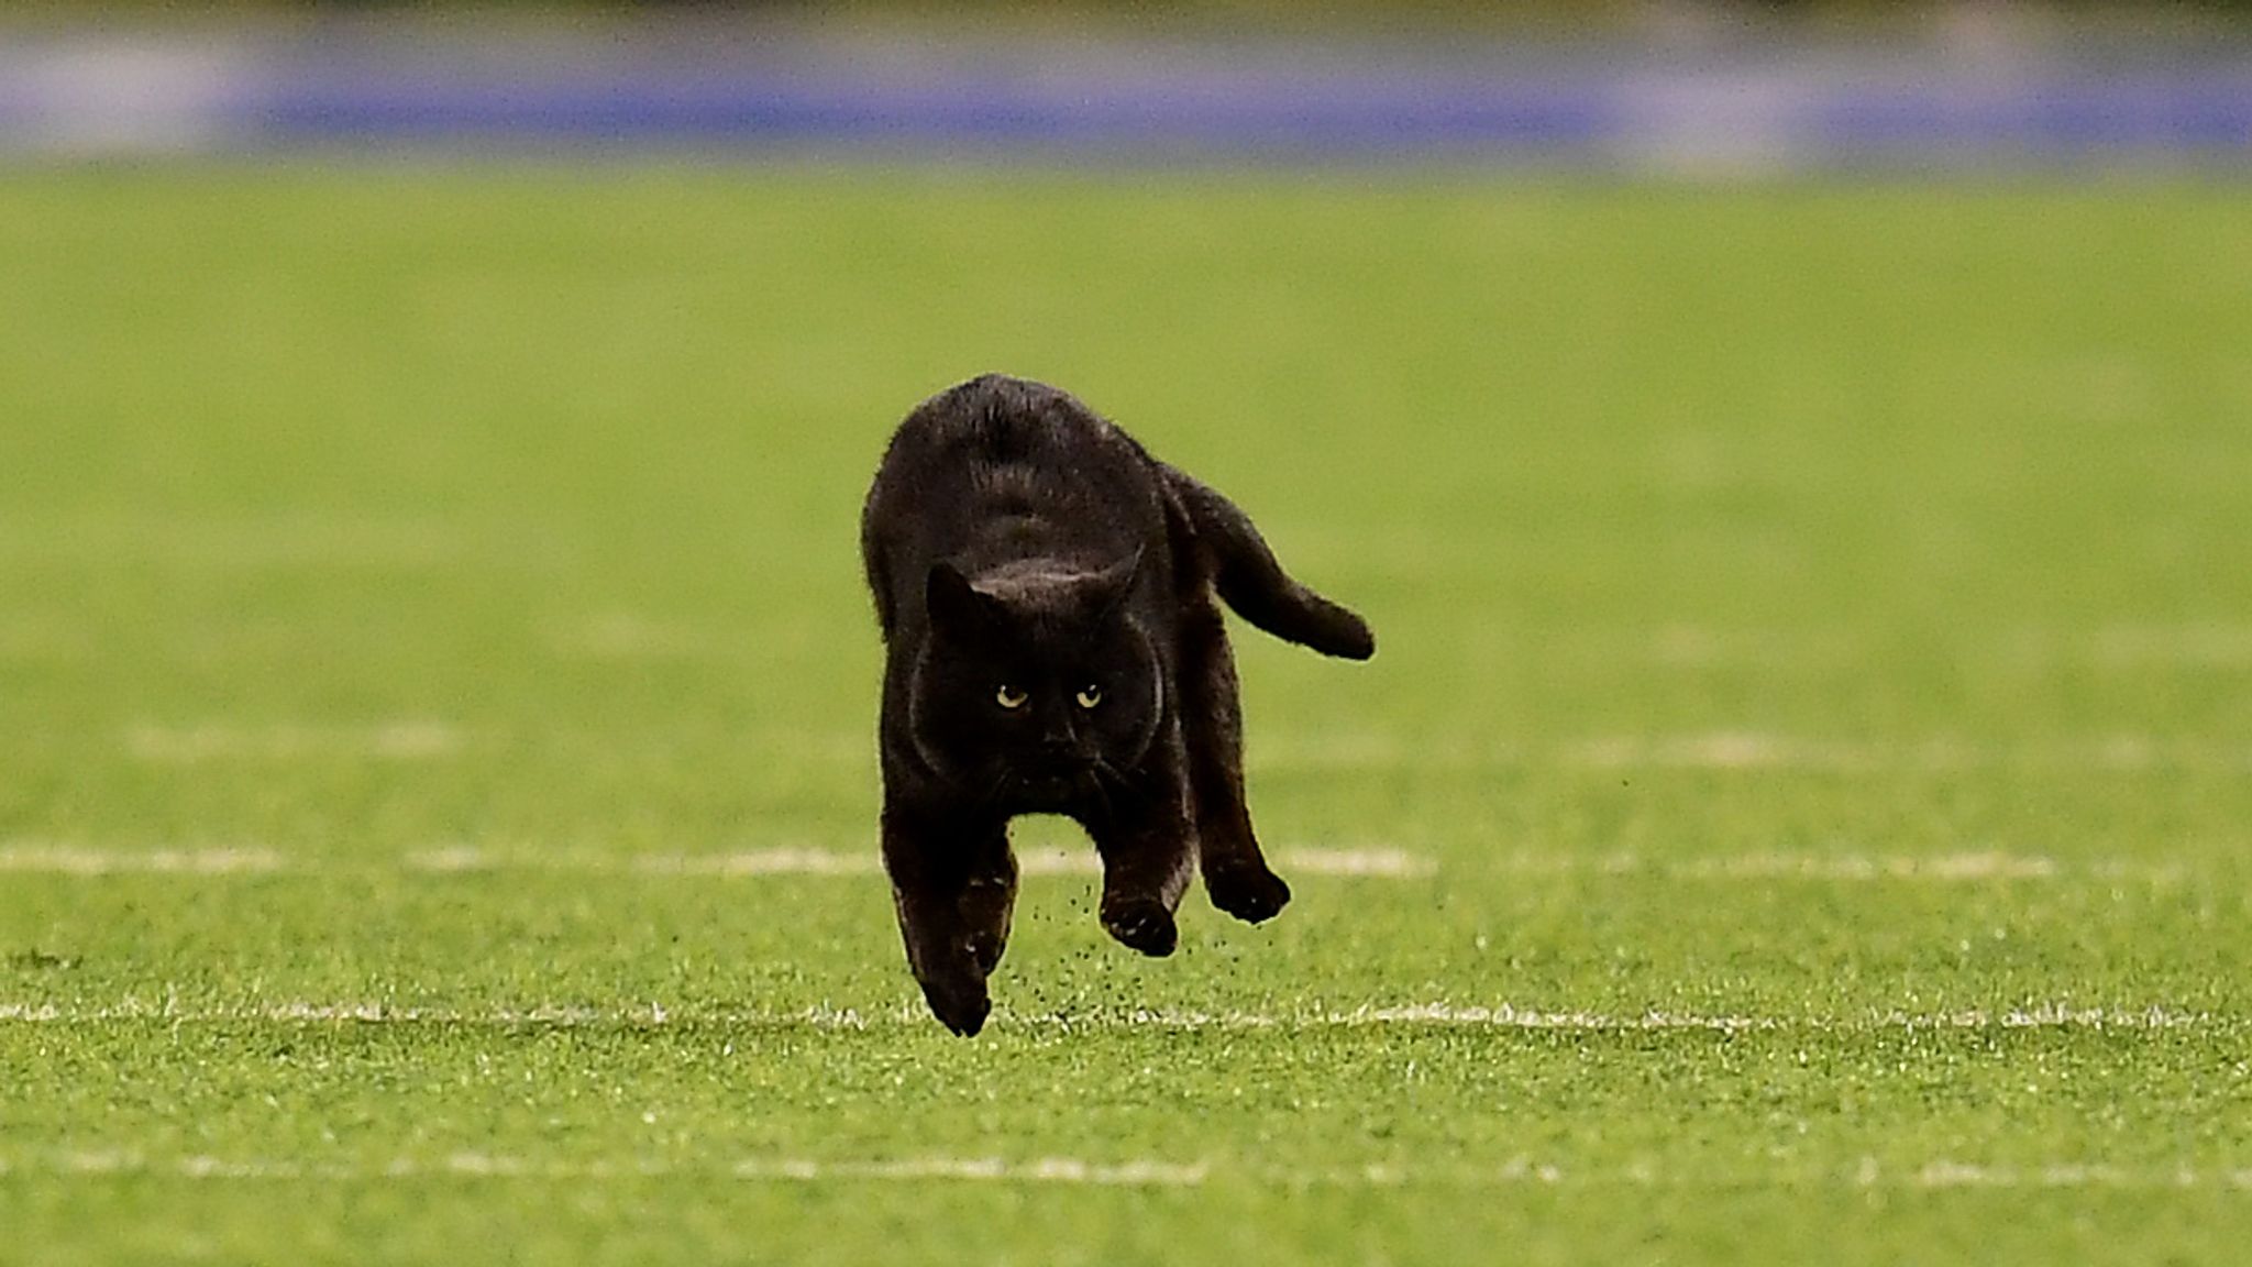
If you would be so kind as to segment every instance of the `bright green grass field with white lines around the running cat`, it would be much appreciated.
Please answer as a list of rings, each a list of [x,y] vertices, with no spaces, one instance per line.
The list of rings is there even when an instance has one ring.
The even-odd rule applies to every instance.
[[[0,180],[0,1258],[2241,1260],[2252,189]],[[1297,902],[874,870],[896,417],[1356,604]]]

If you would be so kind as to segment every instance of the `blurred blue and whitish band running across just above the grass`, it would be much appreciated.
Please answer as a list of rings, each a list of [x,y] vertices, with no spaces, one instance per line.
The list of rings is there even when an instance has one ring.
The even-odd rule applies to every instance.
[[[2252,52],[0,36],[0,151],[354,147],[2234,167],[2252,160]]]

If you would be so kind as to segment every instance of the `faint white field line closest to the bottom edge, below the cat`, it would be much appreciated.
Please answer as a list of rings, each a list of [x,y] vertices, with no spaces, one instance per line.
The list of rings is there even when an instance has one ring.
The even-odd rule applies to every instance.
[[[1225,1172],[1225,1170],[1221,1170]],[[0,1175],[61,1175],[77,1179],[176,1177],[198,1181],[324,1181],[374,1184],[396,1179],[545,1179],[545,1181],[635,1181],[635,1179],[739,1179],[745,1184],[1002,1184],[1002,1186],[1121,1186],[1121,1188],[1196,1188],[1216,1175],[1209,1161],[1088,1161],[1079,1157],[899,1157],[899,1159],[815,1159],[750,1157],[734,1163],[667,1163],[637,1159],[538,1159],[491,1152],[455,1152],[448,1157],[399,1157],[367,1161],[293,1161],[234,1159],[212,1154],[149,1157],[131,1150],[61,1152],[50,1157],[0,1157]],[[1549,1161],[1513,1157],[1500,1166],[1392,1166],[1302,1170],[1286,1166],[1245,1166],[1236,1172],[1254,1184],[1288,1188],[1403,1188],[1432,1184],[1446,1188],[1507,1188],[1522,1184],[1633,1186],[1633,1188],[1743,1188],[1757,1184],[1806,1181],[1804,1172],[1689,1170],[1666,1175],[1639,1161],[1624,1168],[1565,1170]],[[1982,1166],[1973,1161],[1934,1159],[1921,1166],[1885,1168],[1862,1159],[1851,1172],[1831,1170],[1820,1181],[1842,1188],[2171,1188],[2252,1193],[2252,1168],[2180,1166],[2171,1170],[2135,1170],[2106,1161],[2056,1161],[2040,1166]]]

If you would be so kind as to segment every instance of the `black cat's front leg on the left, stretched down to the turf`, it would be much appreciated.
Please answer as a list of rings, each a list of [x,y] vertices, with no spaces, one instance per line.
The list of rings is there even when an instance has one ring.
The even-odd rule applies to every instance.
[[[883,866],[930,1012],[975,1035],[993,1010],[986,976],[1000,963],[1016,900],[1016,859],[1002,821],[948,823],[885,807]]]

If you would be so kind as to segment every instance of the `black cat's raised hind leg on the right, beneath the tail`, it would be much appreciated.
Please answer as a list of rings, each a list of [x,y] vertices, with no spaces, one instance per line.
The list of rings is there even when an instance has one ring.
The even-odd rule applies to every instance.
[[[1236,920],[1272,920],[1290,886],[1268,868],[1243,798],[1243,708],[1227,624],[1209,597],[1194,602],[1180,629],[1182,737],[1196,800],[1196,848],[1212,904]]]

